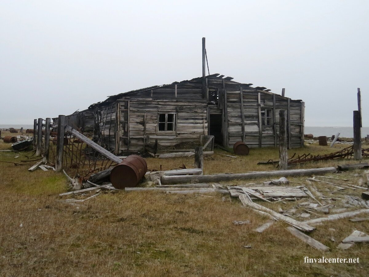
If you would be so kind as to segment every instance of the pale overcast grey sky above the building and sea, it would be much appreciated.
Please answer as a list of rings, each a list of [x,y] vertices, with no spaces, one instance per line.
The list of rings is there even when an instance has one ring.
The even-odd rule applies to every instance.
[[[210,73],[305,101],[306,126],[369,126],[369,1],[1,1],[0,124],[68,115]]]

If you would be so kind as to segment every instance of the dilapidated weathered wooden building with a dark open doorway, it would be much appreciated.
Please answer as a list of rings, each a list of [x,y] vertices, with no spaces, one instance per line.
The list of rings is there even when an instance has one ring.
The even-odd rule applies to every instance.
[[[213,74],[109,96],[87,110],[94,114],[94,138],[115,154],[143,150],[155,140],[161,146],[200,145],[206,135],[224,147],[237,141],[251,148],[277,146],[279,110],[284,109],[288,146],[303,145],[302,100],[232,79]]]

